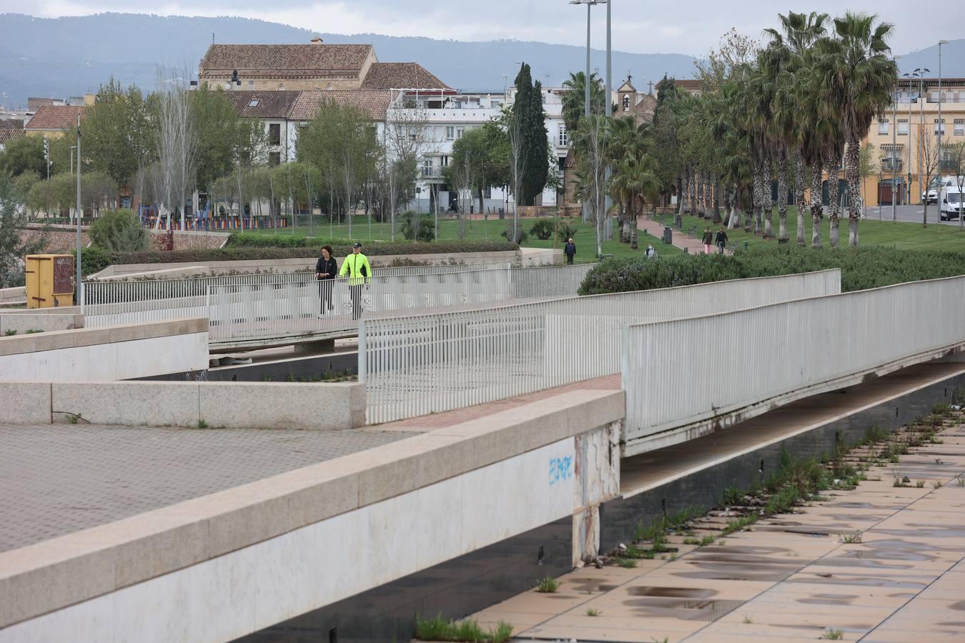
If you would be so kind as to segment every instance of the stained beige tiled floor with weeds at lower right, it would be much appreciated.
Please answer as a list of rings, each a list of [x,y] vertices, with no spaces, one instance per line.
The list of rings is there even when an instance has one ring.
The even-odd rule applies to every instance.
[[[676,560],[581,569],[557,594],[528,592],[475,618],[511,623],[518,640],[746,643],[837,630],[852,641],[965,640],[965,486],[955,479],[965,427],[939,437],[800,513],[681,545]],[[896,475],[913,485],[894,487]],[[843,542],[855,533],[860,543]]]

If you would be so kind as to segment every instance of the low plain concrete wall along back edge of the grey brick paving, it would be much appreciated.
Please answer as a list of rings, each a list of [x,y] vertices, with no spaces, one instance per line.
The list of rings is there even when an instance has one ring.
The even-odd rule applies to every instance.
[[[354,383],[0,382],[11,424],[352,429],[365,424]]]

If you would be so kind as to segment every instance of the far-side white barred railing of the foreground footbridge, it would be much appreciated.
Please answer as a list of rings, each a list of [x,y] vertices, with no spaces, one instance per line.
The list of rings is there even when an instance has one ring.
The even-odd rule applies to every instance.
[[[841,272],[366,319],[359,375],[382,423],[620,372],[630,323],[736,310],[841,291]]]

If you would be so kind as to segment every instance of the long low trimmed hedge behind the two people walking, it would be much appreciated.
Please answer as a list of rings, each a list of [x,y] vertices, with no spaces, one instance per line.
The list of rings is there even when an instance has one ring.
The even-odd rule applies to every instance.
[[[324,245],[324,244],[320,244]],[[195,249],[174,251],[146,251],[143,253],[110,253],[110,262],[129,263],[202,263],[207,261],[243,261],[252,259],[301,259],[317,256],[317,241],[302,248],[252,248],[226,247],[218,250]],[[329,244],[332,245],[332,244]],[[499,253],[519,250],[519,246],[507,242],[441,242],[441,243],[369,243],[363,251],[369,256],[378,255],[435,255],[458,253]],[[336,257],[351,255],[350,245],[332,245]]]

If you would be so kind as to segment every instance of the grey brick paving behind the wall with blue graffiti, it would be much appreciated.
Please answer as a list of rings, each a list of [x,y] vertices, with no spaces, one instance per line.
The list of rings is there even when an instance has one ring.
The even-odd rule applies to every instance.
[[[0,551],[410,435],[0,425]]]

